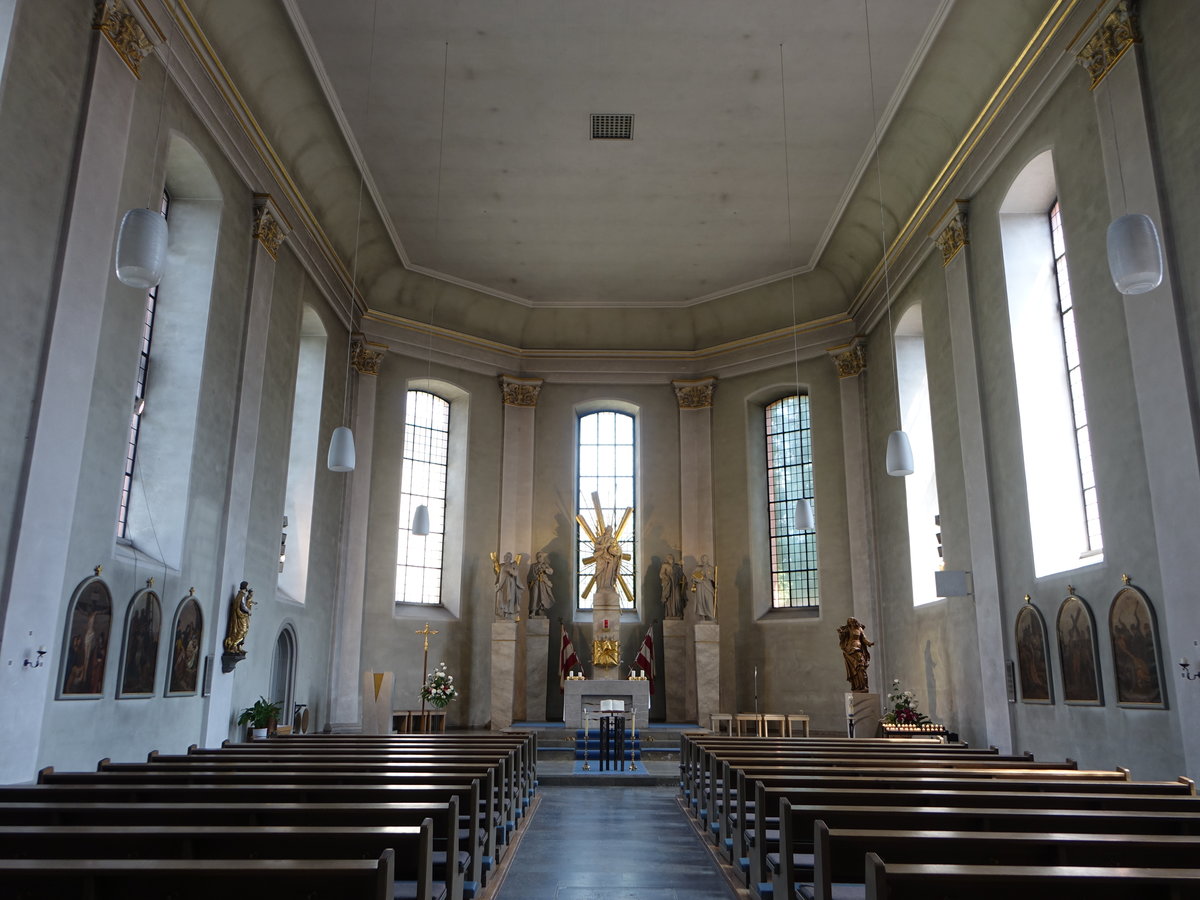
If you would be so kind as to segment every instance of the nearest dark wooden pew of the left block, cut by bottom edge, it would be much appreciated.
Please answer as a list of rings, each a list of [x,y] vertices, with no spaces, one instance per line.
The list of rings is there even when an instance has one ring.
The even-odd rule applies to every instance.
[[[390,900],[394,857],[368,859],[0,859],[13,898],[304,896]]]

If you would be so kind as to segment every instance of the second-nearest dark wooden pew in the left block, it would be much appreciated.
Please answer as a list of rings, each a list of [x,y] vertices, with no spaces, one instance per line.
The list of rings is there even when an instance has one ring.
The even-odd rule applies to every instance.
[[[444,900],[433,881],[433,820],[419,826],[0,826],[8,859],[366,859],[392,854],[389,896]],[[305,889],[298,889],[305,895]],[[144,895],[138,893],[138,895]],[[276,890],[268,896],[277,895]]]

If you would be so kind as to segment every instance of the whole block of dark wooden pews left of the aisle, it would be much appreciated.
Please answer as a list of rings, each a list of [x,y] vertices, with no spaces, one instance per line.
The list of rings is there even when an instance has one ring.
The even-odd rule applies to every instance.
[[[536,790],[533,734],[288,736],[0,787],[5,898],[470,900]]]

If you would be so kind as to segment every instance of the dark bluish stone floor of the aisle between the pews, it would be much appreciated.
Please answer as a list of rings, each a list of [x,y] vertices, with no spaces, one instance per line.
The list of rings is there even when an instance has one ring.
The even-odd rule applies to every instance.
[[[674,787],[544,785],[496,900],[730,900]]]

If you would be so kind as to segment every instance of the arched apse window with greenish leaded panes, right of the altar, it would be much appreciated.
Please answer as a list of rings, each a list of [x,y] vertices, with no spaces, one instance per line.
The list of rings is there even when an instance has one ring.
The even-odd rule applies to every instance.
[[[770,536],[770,605],[810,608],[821,604],[817,535],[796,527],[796,502],[812,498],[812,428],[806,394],[763,410],[767,444],[767,520]]]

